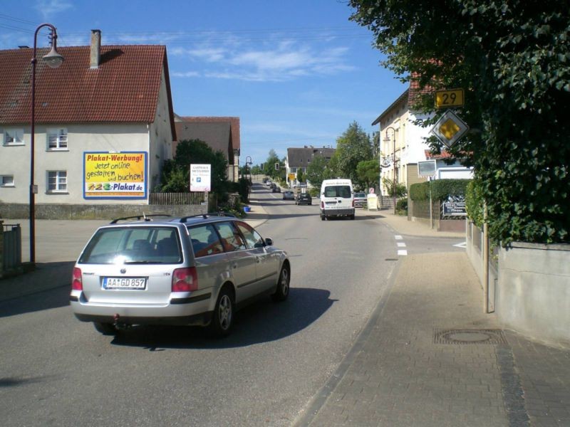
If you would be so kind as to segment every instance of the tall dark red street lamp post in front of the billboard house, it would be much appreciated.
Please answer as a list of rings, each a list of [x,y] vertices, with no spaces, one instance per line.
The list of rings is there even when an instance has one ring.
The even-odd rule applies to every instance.
[[[33,34],[33,55],[31,57],[31,135],[30,135],[30,263],[36,262],[36,186],[33,184],[33,170],[34,170],[34,137],[36,134],[35,121],[36,121],[36,48],[38,44],[38,32],[43,27],[50,28],[50,44],[51,50],[43,60],[51,68],[58,68],[63,63],[63,56],[57,51],[57,31],[56,27],[51,23],[42,23],[36,28],[36,33]]]

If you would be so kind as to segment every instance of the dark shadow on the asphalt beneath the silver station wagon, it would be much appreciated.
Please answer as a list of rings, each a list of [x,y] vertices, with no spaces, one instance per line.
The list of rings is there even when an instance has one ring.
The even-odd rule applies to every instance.
[[[237,312],[229,337],[214,339],[202,327],[131,327],[122,331],[112,344],[141,347],[150,351],[165,349],[222,349],[289,337],[315,322],[336,300],[331,292],[312,288],[291,288],[289,300],[273,303],[261,298]],[[95,332],[94,332],[95,333]]]

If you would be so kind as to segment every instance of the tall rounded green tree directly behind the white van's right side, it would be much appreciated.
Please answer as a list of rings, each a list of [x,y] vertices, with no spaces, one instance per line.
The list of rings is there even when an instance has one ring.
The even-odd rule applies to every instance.
[[[370,137],[357,122],[352,122],[343,135],[336,139],[333,158],[343,178],[359,181],[356,167],[359,162],[372,159],[372,145]]]

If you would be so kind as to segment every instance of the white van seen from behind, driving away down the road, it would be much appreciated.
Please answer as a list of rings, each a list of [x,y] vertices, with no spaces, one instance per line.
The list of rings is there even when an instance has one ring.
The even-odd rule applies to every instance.
[[[354,190],[350,179],[325,179],[321,184],[321,219],[348,216],[354,219]]]

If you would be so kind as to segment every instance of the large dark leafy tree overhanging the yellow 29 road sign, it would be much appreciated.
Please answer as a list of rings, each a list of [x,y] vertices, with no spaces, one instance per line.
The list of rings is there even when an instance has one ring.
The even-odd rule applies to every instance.
[[[434,112],[433,90],[465,90],[465,107],[458,113],[471,131],[451,152],[470,156],[494,241],[504,246],[512,241],[569,241],[568,4],[349,4],[355,10],[351,19],[373,32],[375,46],[386,56],[383,65],[424,93],[415,100],[416,109]],[[437,141],[431,143],[435,152],[441,148]]]

